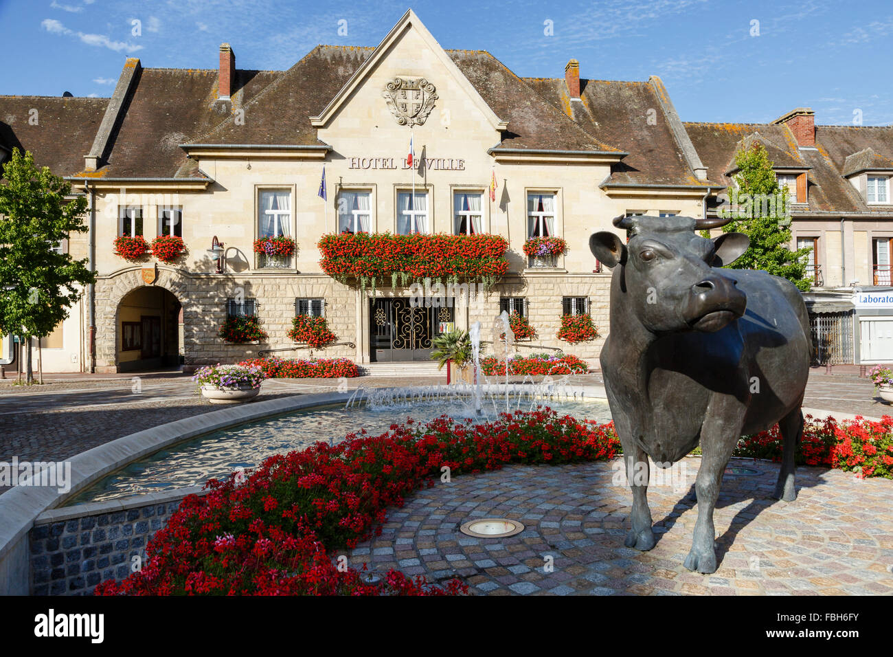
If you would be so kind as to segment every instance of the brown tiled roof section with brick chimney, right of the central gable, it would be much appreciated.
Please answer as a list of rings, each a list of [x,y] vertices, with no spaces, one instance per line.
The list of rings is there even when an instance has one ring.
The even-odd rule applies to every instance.
[[[524,81],[593,138],[630,154],[613,165],[608,184],[717,186],[691,171],[650,82],[580,79],[580,101],[572,101],[563,78]]]

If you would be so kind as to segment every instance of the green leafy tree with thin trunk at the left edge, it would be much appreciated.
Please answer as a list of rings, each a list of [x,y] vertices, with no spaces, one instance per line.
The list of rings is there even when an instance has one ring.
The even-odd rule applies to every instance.
[[[71,232],[85,232],[87,199],[67,200],[71,184],[38,169],[18,148],[3,167],[0,184],[0,333],[28,344],[28,383],[33,383],[31,338],[44,337],[69,315],[83,287],[96,281],[87,260],[54,246]]]

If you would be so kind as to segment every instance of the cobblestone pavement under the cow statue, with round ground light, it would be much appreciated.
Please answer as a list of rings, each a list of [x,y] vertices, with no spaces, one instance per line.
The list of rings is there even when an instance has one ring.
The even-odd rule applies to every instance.
[[[677,464],[672,484],[693,483],[699,460]],[[697,519],[693,485],[649,487],[657,544],[638,552],[623,545],[630,491],[612,484],[613,463],[605,462],[513,466],[438,482],[390,510],[382,535],[348,559],[382,574],[460,577],[472,594],[893,594],[893,482],[800,467],[797,501],[781,502],[769,498],[777,464],[733,459],[732,466],[758,474],[724,476],[713,575],[682,566]],[[469,519],[494,517],[525,529],[483,539],[459,531]]]

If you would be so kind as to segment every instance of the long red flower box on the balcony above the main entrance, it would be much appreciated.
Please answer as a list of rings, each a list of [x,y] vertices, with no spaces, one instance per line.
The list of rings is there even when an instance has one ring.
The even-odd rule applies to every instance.
[[[323,235],[318,247],[322,271],[338,281],[375,282],[400,278],[492,283],[508,270],[508,242],[500,235],[392,235],[359,232]]]

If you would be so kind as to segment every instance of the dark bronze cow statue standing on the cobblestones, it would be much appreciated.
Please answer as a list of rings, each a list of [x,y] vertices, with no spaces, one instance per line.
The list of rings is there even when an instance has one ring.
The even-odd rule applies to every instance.
[[[613,232],[589,238],[592,253],[613,267],[601,366],[632,489],[626,545],[655,546],[647,456],[670,467],[700,443],[697,523],[685,567],[701,573],[716,570],[714,507],[741,435],[780,425],[784,456],[775,497],[797,498],[794,454],[812,350],[806,307],[793,284],[719,268],[747,250],[747,236],[708,240],[695,232],[724,223],[620,216],[613,224],[630,232],[628,243]]]

